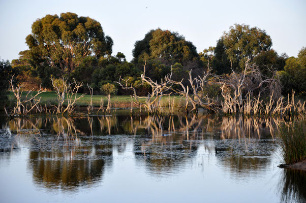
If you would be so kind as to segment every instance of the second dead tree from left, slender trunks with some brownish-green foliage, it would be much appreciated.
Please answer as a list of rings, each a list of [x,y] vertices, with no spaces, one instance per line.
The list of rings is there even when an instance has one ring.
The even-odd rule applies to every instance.
[[[57,82],[55,80],[57,80]],[[51,78],[58,100],[58,106],[54,106],[56,108],[56,113],[64,114],[67,112],[68,115],[71,115],[74,113],[76,101],[84,96],[84,94],[79,96],[77,95],[77,92],[79,88],[83,86],[83,83],[79,83],[75,79],[73,79],[73,83],[67,82],[67,79],[64,78],[55,80]],[[58,81],[60,81],[60,83],[58,83]],[[67,96],[66,107],[64,107],[65,95]]]

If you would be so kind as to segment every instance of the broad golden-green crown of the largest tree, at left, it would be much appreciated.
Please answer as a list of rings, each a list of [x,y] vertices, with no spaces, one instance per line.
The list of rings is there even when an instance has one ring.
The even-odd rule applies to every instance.
[[[62,74],[73,72],[86,56],[97,58],[112,53],[113,41],[101,24],[74,13],[46,15],[32,24],[26,37],[29,57],[36,65],[55,67]]]

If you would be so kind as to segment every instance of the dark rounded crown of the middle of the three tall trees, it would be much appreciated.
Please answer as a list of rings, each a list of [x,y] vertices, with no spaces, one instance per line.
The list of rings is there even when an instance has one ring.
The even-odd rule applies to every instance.
[[[135,43],[133,56],[133,62],[139,70],[143,71],[144,61],[147,61],[146,75],[155,81],[170,73],[170,66],[176,63],[182,66],[181,73],[191,69],[197,73],[203,72],[196,47],[177,32],[169,30],[150,30],[143,40]],[[177,80],[183,77],[181,73],[176,74]]]

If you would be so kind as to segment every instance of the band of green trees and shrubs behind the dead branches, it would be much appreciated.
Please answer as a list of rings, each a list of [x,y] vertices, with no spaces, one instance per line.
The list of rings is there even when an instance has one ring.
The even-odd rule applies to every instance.
[[[271,70],[279,72],[284,95],[292,90],[299,96],[306,95],[306,48],[301,48],[297,58],[280,55],[271,49],[272,40],[265,30],[246,24],[231,26],[215,47],[200,53],[177,32],[152,29],[135,42],[131,62],[121,52],[112,53],[113,41],[98,21],[74,13],[36,20],[25,40],[28,49],[21,51],[18,59],[1,61],[2,90],[8,89],[7,81],[15,75],[24,90],[38,89],[40,84],[52,90],[51,78],[65,77],[89,84],[96,93],[102,85],[112,83],[118,94],[127,94],[114,83],[122,77],[130,78],[139,95],[146,95],[149,86],[140,79],[144,61],[146,76],[152,80],[161,80],[172,65],[172,79],[180,81],[190,70],[193,77],[202,75],[208,66],[216,75],[241,72],[249,59],[267,77],[272,76]],[[85,86],[82,91],[86,91]]]

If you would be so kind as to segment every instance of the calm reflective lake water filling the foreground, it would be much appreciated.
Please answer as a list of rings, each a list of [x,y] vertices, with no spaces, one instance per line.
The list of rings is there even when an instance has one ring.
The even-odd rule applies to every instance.
[[[273,118],[0,117],[1,202],[303,202]]]

